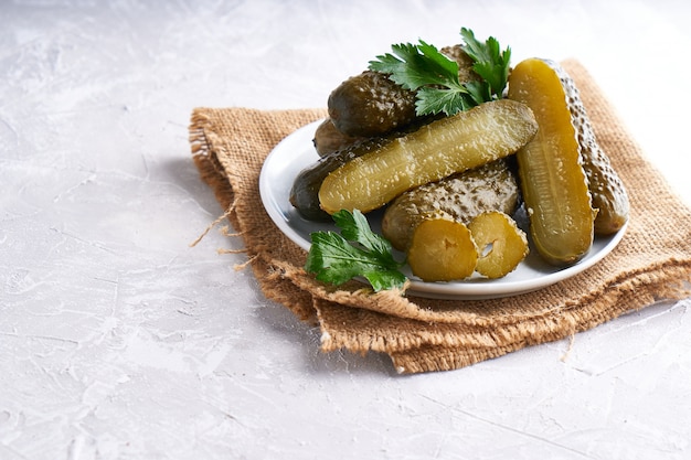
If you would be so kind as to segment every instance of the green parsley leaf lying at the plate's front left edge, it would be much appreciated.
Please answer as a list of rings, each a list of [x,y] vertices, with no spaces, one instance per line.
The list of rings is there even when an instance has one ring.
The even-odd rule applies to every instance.
[[[406,277],[398,268],[403,263],[394,259],[391,243],[372,232],[366,217],[358,210],[341,210],[332,217],[341,235],[312,232],[305,269],[332,285],[361,276],[375,291],[402,288]]]

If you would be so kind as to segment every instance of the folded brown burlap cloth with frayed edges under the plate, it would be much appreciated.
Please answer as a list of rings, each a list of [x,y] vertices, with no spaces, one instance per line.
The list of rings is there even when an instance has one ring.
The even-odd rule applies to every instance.
[[[190,127],[192,153],[243,238],[264,295],[302,320],[318,321],[323,351],[387,353],[400,373],[459,368],[573,336],[661,299],[689,296],[690,208],[644,158],[587,71],[577,61],[562,64],[628,189],[631,215],[624,239],[603,261],[532,293],[481,301],[429,300],[391,291],[372,295],[358,282],[336,289],[307,275],[302,269],[307,253],[264,211],[258,176],[275,145],[325,117],[325,109],[196,108]],[[228,314],[246,313],[242,306],[234,308]]]

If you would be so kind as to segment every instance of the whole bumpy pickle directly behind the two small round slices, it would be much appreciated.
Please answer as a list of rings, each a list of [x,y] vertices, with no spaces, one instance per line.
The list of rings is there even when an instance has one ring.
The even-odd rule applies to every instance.
[[[405,250],[417,224],[430,213],[468,224],[486,211],[512,214],[518,203],[514,173],[500,159],[398,195],[384,212],[382,233],[393,247]]]

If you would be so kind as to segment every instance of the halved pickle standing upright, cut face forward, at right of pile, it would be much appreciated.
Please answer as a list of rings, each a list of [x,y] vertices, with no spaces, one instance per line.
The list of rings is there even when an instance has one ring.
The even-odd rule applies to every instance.
[[[528,105],[539,125],[535,137],[517,152],[532,239],[549,264],[571,266],[591,249],[596,211],[554,63],[520,62],[509,76],[508,96]]]

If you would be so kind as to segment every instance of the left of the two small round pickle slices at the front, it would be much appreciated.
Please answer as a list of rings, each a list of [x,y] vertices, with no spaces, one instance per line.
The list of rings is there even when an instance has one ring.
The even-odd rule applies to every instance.
[[[468,227],[450,218],[426,218],[413,232],[407,261],[423,281],[454,281],[472,275],[478,250]]]

